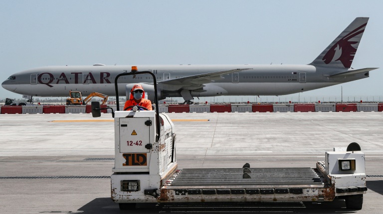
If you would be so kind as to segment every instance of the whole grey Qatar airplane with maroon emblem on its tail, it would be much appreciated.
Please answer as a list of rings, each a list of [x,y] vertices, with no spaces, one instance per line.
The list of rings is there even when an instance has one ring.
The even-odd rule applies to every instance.
[[[334,86],[369,77],[378,68],[353,69],[368,17],[357,17],[314,61],[308,65],[135,65],[138,71],[156,75],[158,97],[279,96]],[[11,75],[1,86],[24,97],[65,97],[69,91],[115,96],[114,80],[130,72],[132,65],[47,66]],[[119,96],[129,98],[130,89],[141,84],[154,101],[150,75],[125,76],[118,80]]]

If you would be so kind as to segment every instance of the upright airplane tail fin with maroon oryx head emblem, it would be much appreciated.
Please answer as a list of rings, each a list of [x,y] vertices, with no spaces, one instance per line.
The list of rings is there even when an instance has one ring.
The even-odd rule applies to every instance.
[[[350,68],[368,17],[357,17],[310,65]]]

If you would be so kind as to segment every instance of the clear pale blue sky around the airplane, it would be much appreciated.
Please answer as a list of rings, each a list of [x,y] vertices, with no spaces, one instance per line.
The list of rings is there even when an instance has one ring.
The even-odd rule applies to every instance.
[[[382,96],[380,0],[0,0],[0,77],[53,65],[309,64],[370,17],[352,67],[370,78],[300,96]],[[21,98],[0,88],[0,99]]]

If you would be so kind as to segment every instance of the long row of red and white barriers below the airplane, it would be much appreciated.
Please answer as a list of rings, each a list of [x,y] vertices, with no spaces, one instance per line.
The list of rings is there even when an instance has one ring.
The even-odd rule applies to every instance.
[[[102,105],[101,108],[116,106]],[[120,105],[120,110],[123,110]],[[161,105],[160,112],[350,112],[350,111],[383,111],[383,104],[253,104],[253,105]],[[1,106],[1,114],[25,113],[91,113],[88,106]],[[110,109],[101,110],[102,113],[111,113]]]

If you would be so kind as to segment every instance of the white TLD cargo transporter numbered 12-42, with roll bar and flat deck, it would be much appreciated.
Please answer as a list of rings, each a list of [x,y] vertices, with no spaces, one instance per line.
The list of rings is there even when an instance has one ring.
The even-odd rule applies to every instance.
[[[141,73],[150,72],[136,74]],[[96,103],[92,102],[92,113],[97,114]],[[331,202],[336,198],[345,199],[348,209],[362,209],[367,191],[365,154],[356,143],[347,150],[326,152],[325,161],[318,161],[316,168],[253,168],[246,163],[238,168],[178,169],[175,126],[156,110],[134,107],[114,112],[111,190],[112,200],[122,210],[134,209],[136,203]]]

